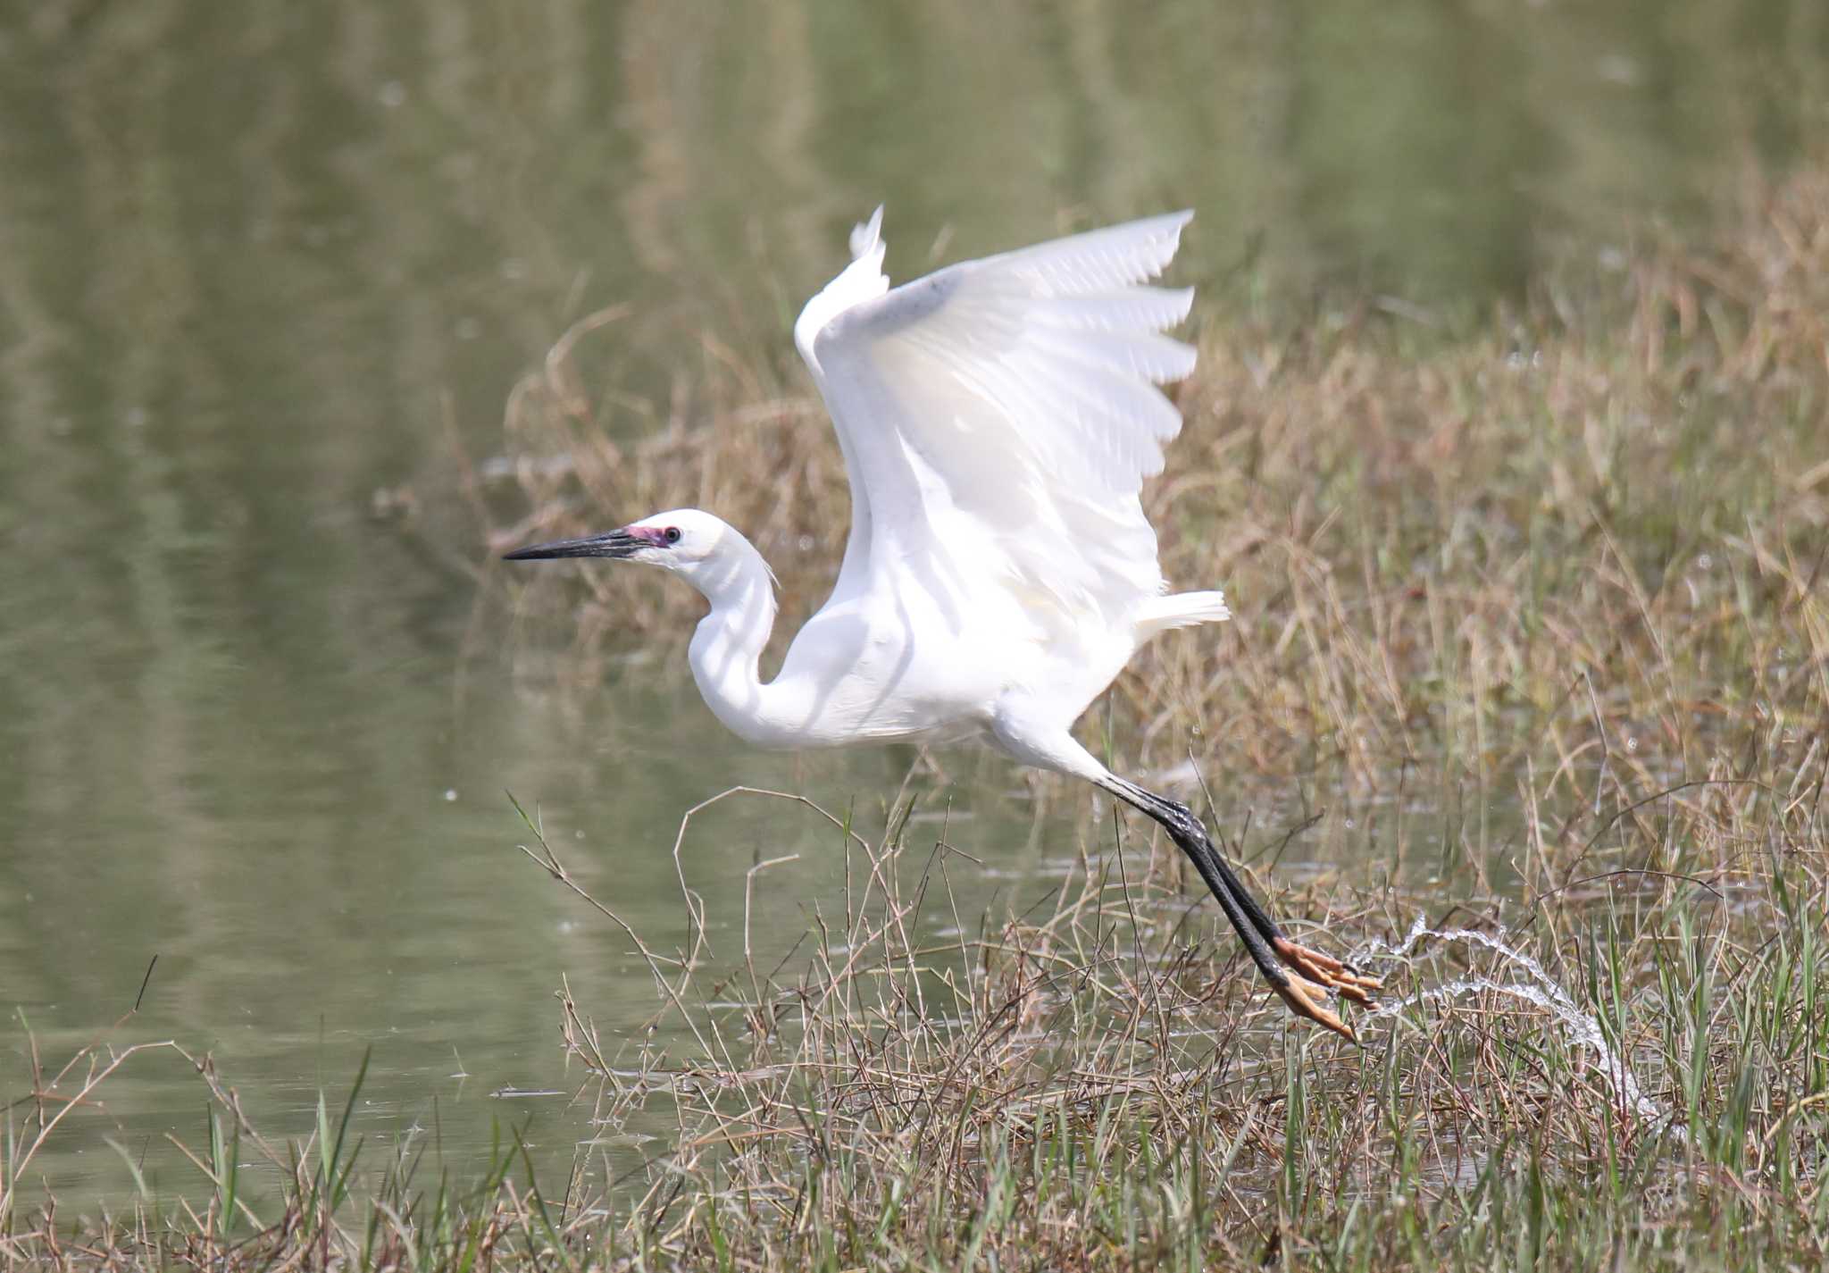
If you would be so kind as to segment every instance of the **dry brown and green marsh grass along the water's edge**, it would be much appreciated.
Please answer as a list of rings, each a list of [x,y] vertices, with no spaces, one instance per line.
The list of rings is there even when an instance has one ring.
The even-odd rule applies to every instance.
[[[914,920],[951,898],[946,834],[898,805],[865,840],[801,799],[850,887],[790,964],[631,929],[664,1030],[620,1050],[562,997],[594,1092],[571,1180],[532,1180],[512,1138],[465,1189],[412,1158],[357,1169],[337,1101],[307,1145],[269,1145],[192,1057],[216,1108],[194,1203],[60,1218],[22,1191],[128,1061],[97,1044],[11,1107],[0,1258],[1822,1268],[1829,170],[1749,194],[1705,249],[1549,263],[1481,320],[1220,300],[1149,499],[1171,578],[1224,583],[1238,618],[1139,657],[1101,746],[1355,810],[1353,865],[1278,909],[1386,973],[1363,1048],[1289,1028],[1198,882],[1123,823],[1035,907],[935,936]],[[711,344],[666,404],[593,397],[574,346],[615,318],[516,390],[497,468],[534,512],[499,541],[713,507],[774,562],[792,631],[845,525],[823,415]],[[591,572],[582,602],[514,587],[585,653],[693,613],[633,571]],[[657,1114],[649,1152],[609,1149]],[[241,1191],[249,1154],[282,1182],[273,1213]]]

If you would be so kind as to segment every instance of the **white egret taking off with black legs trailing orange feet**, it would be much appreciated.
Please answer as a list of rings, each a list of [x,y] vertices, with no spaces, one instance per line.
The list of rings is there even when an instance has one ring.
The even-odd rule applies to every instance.
[[[711,604],[691,669],[711,711],[759,746],[980,735],[1083,777],[1161,823],[1218,898],[1258,971],[1299,1015],[1352,1030],[1328,991],[1379,982],[1297,946],[1180,801],[1123,779],[1072,726],[1156,633],[1229,618],[1222,593],[1167,591],[1138,492],[1182,415],[1156,386],[1194,369],[1161,335],[1193,289],[1149,280],[1191,212],[962,262],[902,287],[883,276],[882,216],[807,302],[794,342],[838,428],[850,536],[832,596],[781,671],[759,660],[774,574],[735,529],[677,508],[507,554],[658,565]]]

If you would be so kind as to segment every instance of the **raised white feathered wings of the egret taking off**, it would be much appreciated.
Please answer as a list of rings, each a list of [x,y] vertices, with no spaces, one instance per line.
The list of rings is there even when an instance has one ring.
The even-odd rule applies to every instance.
[[[1156,388],[1194,368],[1160,335],[1191,289],[1143,285],[1191,212],[964,262],[887,291],[878,218],[796,324],[838,426],[852,529],[840,587],[885,562],[995,580],[1072,624],[1163,589],[1138,490],[1182,415]],[[969,600],[969,598],[957,598]]]

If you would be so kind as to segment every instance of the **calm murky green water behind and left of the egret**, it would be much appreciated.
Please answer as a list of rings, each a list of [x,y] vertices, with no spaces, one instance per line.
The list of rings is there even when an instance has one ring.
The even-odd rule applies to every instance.
[[[662,402],[697,333],[788,358],[878,201],[898,274],[1187,205],[1180,278],[1220,304],[1474,311],[1551,243],[1681,223],[1781,168],[1829,86],[1805,0],[1143,11],[0,15],[0,1097],[29,1088],[24,1022],[57,1063],[157,957],[110,1037],[212,1052],[273,1136],[373,1048],[368,1132],[424,1127],[437,1097],[454,1167],[523,1119],[563,1158],[582,1110],[497,1096],[578,1086],[560,979],[607,1037],[655,1000],[627,940],[514,850],[505,792],[668,949],[691,803],[785,786],[880,827],[907,754],[750,754],[640,660],[589,693],[527,671],[569,636],[479,585],[463,476],[576,315],[638,305],[616,368]],[[377,490],[417,514],[377,519]],[[993,865],[962,885],[977,904],[1096,836],[1032,829],[1008,768],[957,774],[916,788],[979,814],[953,836]],[[836,836],[755,803],[695,830],[721,957],[744,871],[781,852],[803,856],[755,898],[774,951],[840,896]],[[161,1138],[199,1139],[203,1107],[148,1059],[33,1178],[121,1196],[106,1134],[166,1194],[199,1189]]]

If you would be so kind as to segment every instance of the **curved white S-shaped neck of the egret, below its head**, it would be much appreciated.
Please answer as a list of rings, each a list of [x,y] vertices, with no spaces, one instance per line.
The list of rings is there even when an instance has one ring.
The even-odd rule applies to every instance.
[[[691,635],[691,675],[706,706],[739,737],[779,744],[770,721],[770,686],[761,679],[763,646],[775,626],[775,589],[768,563],[732,532],[721,551],[680,574],[711,602]]]

